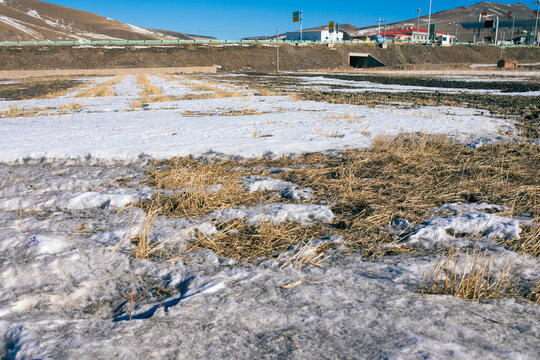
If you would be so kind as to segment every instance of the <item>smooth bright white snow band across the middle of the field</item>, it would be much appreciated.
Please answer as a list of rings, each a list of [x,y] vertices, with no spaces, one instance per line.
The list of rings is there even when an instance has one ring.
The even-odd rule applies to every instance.
[[[183,79],[151,77],[165,94],[182,96]],[[200,81],[198,81],[200,83]],[[230,90],[230,89],[229,89]],[[234,90],[234,89],[233,89]],[[155,102],[130,111],[139,97],[133,76],[115,85],[117,96],[0,101],[0,108],[55,108],[76,102],[78,112],[4,118],[0,128],[0,161],[28,158],[136,160],[221,152],[244,157],[363,148],[379,134],[445,133],[473,144],[501,138],[511,120],[480,115],[473,109],[327,104],[293,101],[285,96],[253,96]],[[236,116],[231,116],[236,114]],[[47,115],[47,116],[46,116]]]

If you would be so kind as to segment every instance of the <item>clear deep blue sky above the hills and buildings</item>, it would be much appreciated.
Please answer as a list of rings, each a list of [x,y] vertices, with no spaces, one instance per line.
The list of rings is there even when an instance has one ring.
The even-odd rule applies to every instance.
[[[339,0],[339,1],[183,1],[183,0],[47,0],[47,2],[90,11],[133,25],[177,31],[187,34],[209,35],[219,39],[240,39],[280,32],[294,31],[299,26],[292,22],[292,12],[303,10],[304,28],[335,21],[358,27],[377,23],[383,17],[389,23],[416,17],[416,9],[427,14],[429,0]],[[480,2],[467,0],[433,0],[432,12]],[[500,1],[515,3],[516,1]],[[529,7],[532,0],[523,1]]]

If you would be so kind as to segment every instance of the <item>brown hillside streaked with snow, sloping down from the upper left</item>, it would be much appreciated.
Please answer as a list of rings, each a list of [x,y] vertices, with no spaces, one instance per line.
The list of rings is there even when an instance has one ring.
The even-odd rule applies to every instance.
[[[174,40],[200,36],[151,30],[38,0],[0,0],[0,41]]]

